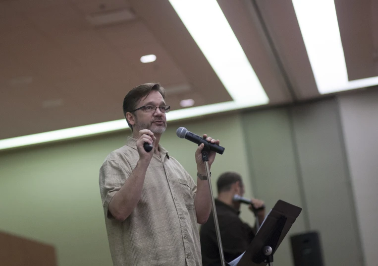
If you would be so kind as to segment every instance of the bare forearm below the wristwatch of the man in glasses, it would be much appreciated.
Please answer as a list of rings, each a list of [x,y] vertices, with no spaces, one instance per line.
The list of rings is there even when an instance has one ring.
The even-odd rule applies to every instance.
[[[194,197],[194,205],[196,207],[197,222],[204,224],[208,220],[212,209],[208,180],[197,178],[197,192]]]

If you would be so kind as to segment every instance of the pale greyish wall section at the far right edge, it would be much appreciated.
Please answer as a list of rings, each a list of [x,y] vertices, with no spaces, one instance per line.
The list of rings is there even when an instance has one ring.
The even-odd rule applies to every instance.
[[[378,262],[378,91],[339,97],[366,266]]]

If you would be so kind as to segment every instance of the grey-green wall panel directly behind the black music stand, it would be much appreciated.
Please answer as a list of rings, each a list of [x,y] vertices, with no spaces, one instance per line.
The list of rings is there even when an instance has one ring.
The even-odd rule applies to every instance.
[[[252,186],[271,209],[278,199],[304,208],[274,255],[275,264],[293,265],[289,236],[304,232],[306,208],[296,168],[290,117],[286,108],[248,112],[243,116]]]

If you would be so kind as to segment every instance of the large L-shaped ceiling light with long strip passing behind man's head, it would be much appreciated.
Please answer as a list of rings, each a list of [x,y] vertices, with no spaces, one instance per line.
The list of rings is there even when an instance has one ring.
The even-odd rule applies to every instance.
[[[170,0],[233,101],[170,111],[167,121],[269,103],[255,71],[216,0]],[[141,60],[142,61],[142,60]],[[126,121],[56,130],[0,140],[0,150],[126,129]]]

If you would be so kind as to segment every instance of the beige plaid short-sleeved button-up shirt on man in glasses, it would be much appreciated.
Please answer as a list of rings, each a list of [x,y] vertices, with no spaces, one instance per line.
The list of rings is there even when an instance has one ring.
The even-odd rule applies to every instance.
[[[159,145],[147,168],[142,195],[121,222],[109,202],[139,160],[136,139],[111,152],[100,169],[100,193],[114,266],[201,266],[201,247],[194,206],[196,185]]]

